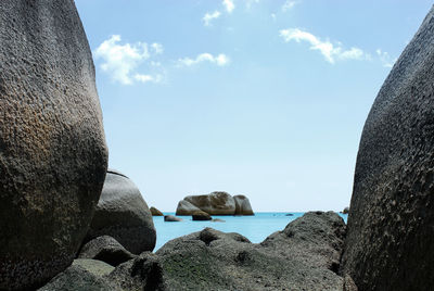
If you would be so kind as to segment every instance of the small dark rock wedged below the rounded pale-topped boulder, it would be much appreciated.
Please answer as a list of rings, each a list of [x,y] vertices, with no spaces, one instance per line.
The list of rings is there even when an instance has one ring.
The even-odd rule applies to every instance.
[[[92,258],[105,262],[114,267],[135,257],[133,254],[112,237],[98,237],[86,243],[78,254],[78,258]]]

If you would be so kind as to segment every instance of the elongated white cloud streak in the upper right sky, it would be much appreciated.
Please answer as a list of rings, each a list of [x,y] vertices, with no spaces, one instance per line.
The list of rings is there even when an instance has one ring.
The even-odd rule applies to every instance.
[[[368,60],[369,54],[366,54],[359,48],[350,48],[345,50],[341,42],[333,45],[329,40],[322,41],[310,33],[303,31],[298,28],[289,28],[280,30],[280,36],[285,42],[294,40],[296,42],[307,41],[310,43],[311,50],[318,50],[326,60],[334,64],[336,60]]]

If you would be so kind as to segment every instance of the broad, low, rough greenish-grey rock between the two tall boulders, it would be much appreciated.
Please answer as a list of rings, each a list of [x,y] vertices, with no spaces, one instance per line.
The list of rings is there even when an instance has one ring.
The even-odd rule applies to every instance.
[[[119,265],[106,278],[126,290],[344,290],[350,284],[335,273],[344,236],[342,218],[320,212],[260,244],[205,228]]]

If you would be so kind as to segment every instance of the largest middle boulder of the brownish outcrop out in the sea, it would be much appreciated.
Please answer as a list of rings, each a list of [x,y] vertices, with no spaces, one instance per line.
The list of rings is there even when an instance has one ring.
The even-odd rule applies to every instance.
[[[233,215],[235,213],[235,201],[227,192],[213,192],[207,195],[189,195],[183,200],[209,215]]]

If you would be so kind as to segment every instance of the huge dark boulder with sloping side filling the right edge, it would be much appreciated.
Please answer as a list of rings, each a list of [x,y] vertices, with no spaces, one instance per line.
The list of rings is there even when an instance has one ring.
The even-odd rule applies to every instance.
[[[365,124],[343,256],[360,290],[433,289],[433,45],[431,10]]]

